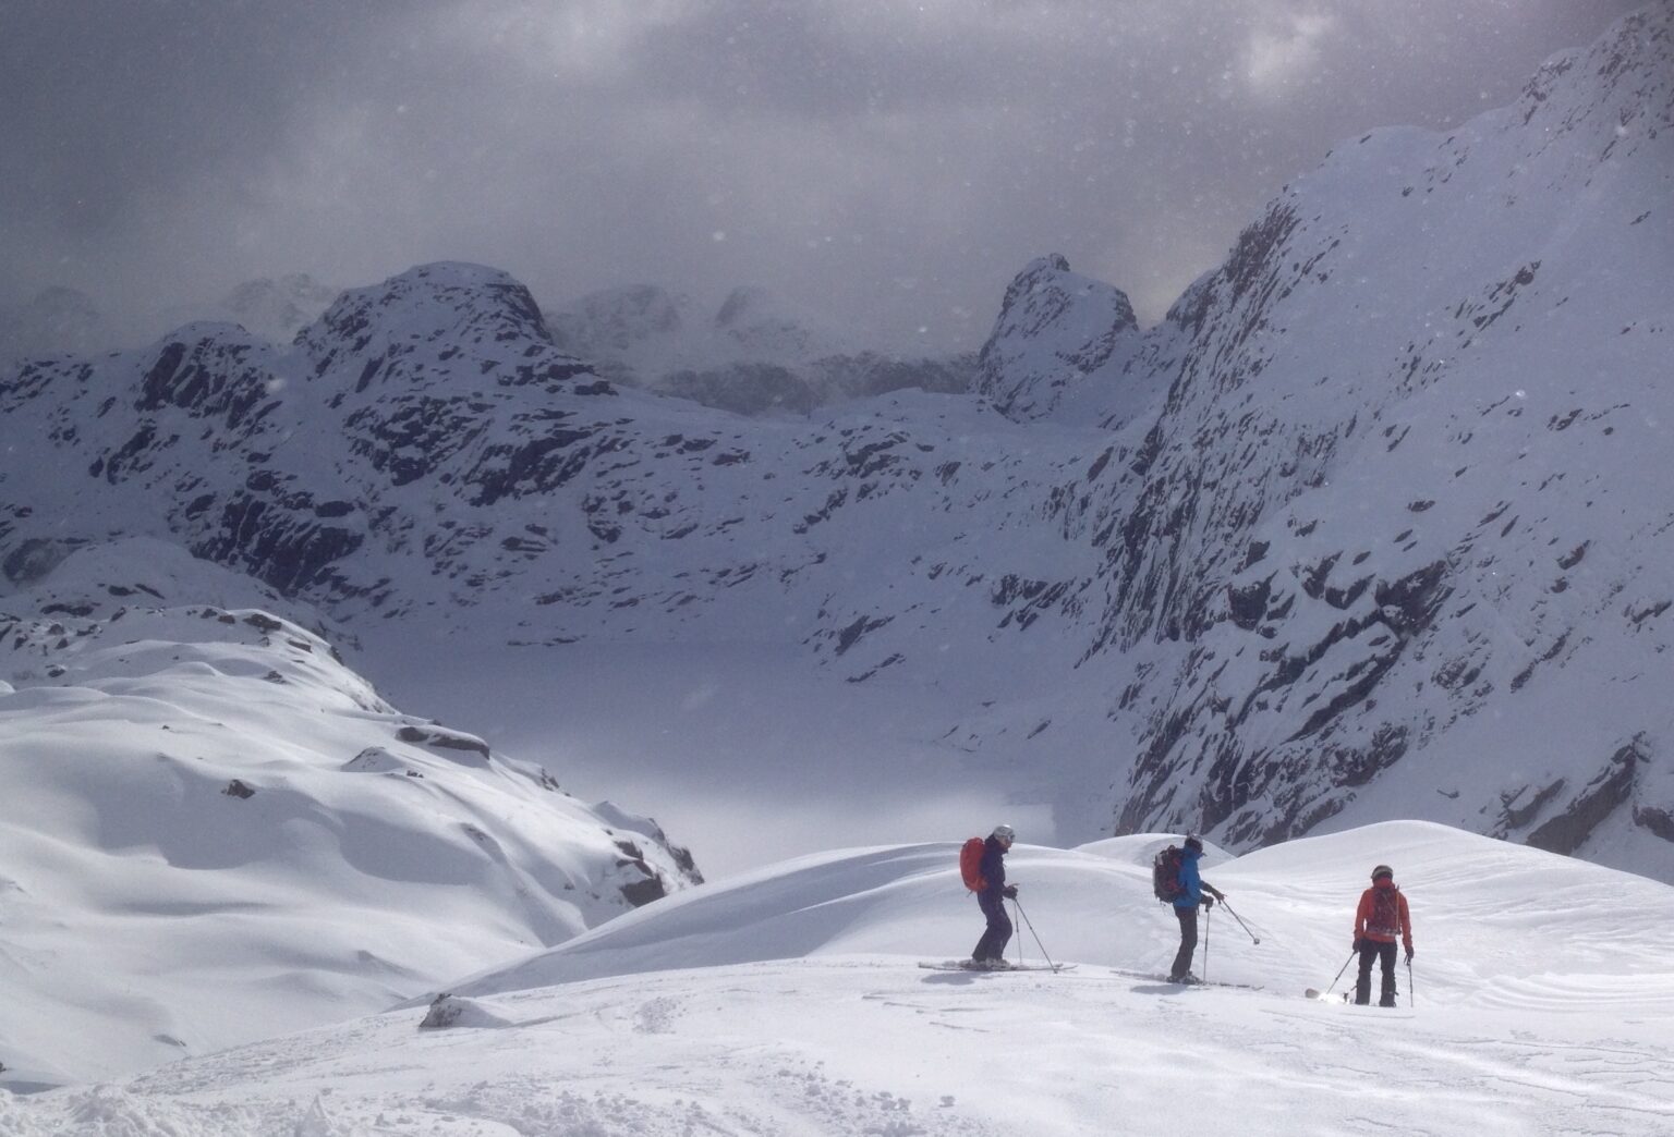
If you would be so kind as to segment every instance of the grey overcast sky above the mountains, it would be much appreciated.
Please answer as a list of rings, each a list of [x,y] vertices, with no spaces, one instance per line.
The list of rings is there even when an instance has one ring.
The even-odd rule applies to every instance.
[[[0,304],[465,259],[549,308],[762,284],[974,348],[1063,252],[1152,321],[1336,142],[1512,102],[1639,7],[10,0]]]

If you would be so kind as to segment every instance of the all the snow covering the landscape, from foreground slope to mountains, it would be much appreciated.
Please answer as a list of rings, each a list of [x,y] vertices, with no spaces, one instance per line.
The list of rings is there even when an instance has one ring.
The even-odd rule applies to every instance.
[[[18,400],[54,376],[75,395],[8,410],[0,472],[0,1134],[1674,1130],[1652,619],[1671,527],[1644,477],[1666,465],[1671,247],[1667,139],[1646,115],[1674,104],[1661,75],[1595,92],[1560,82],[1569,67],[1446,137],[1344,144],[1269,217],[1294,221],[1281,259],[1306,252],[1309,271],[1281,266],[1296,288],[1267,309],[1230,268],[1205,278],[1178,309],[1219,289],[1225,323],[1197,341],[1182,316],[1107,344],[1125,299],[1063,269],[1063,308],[1019,309],[1060,316],[1060,334],[1001,344],[1040,388],[1013,413],[1040,421],[927,393],[805,423],[583,395],[522,286],[455,263],[345,294],[290,349],[203,323],[149,354],[18,371]],[[695,349],[673,299],[606,299],[593,323],[628,336],[618,361]],[[760,293],[727,323],[693,333],[718,359],[849,343]],[[1220,348],[1220,370],[1180,354]],[[162,354],[228,386],[198,398],[196,371],[157,368],[142,401],[164,428],[134,470],[182,465],[124,480],[110,458],[136,423],[94,400]],[[489,378],[521,359],[547,380]],[[1158,386],[1177,371],[1194,381]],[[234,436],[258,383],[288,396]],[[378,433],[408,421],[373,415],[408,386],[439,396],[412,403],[434,433]],[[442,416],[444,395],[480,405]],[[1172,433],[1142,485],[1163,396]],[[321,416],[328,400],[367,433]],[[504,453],[393,485],[348,460],[387,446],[417,472],[462,438],[539,455],[564,416],[608,426],[616,465],[567,497],[496,498],[492,518],[440,487],[511,487]],[[1175,460],[1199,448],[1215,463]],[[296,465],[251,468],[275,451]],[[392,510],[395,537],[341,562],[320,615],[186,555],[176,495],[208,502],[228,477],[300,478],[298,523]],[[608,555],[579,508],[604,502],[621,518]],[[1178,600],[1100,604],[1108,527],[1137,502],[1185,527],[1153,580],[1190,567],[1219,597],[1222,568],[1272,579],[1266,625],[1178,640],[1160,635]],[[1245,547],[1271,560],[1215,567]],[[1242,858],[1210,841],[1205,876],[1244,923],[1210,913],[1199,970],[1254,990],[1145,978],[1173,951],[1147,878],[1175,834],[1056,846],[1130,824],[1112,808],[1147,789],[1140,756],[1155,793],[1132,828],[1219,801],[1217,742],[1277,756],[1252,811],[1353,751],[1386,722],[1312,737],[1316,707],[1394,659],[1401,629],[1373,619],[1398,605],[1349,585],[1443,558],[1475,568],[1364,704],[1425,734],[1398,776],[1322,783],[1314,804],[1336,813],[1287,806],[1309,806],[1307,839]],[[295,582],[283,567],[268,579]],[[385,585],[380,612],[367,597]],[[1269,682],[1291,660],[1296,682]],[[1476,674],[1480,692],[1451,687]],[[1543,796],[1625,762],[1635,796],[1579,846],[1592,864],[1470,831],[1530,838]],[[954,849],[998,819],[1024,838],[1013,946],[1075,970],[921,971],[974,941]],[[1210,836],[1245,848],[1269,821]],[[710,883],[633,908],[648,876],[696,881],[663,824]],[[1302,1000],[1346,987],[1374,863],[1416,918],[1401,1007]]]

